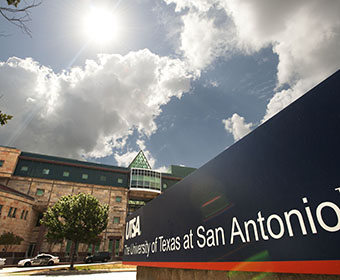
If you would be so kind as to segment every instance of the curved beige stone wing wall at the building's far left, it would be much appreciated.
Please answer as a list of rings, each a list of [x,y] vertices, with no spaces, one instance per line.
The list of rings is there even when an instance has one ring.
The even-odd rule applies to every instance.
[[[33,200],[0,190],[0,205],[2,205],[0,234],[5,231],[11,231],[24,239],[20,245],[10,248],[10,251],[26,252],[29,246],[30,240],[32,239],[32,228],[35,226],[37,220],[37,212],[33,209],[33,204]],[[10,207],[17,209],[15,217],[8,216]],[[26,220],[24,217],[21,218],[22,211],[28,211]],[[3,247],[0,246],[0,251],[2,249]]]

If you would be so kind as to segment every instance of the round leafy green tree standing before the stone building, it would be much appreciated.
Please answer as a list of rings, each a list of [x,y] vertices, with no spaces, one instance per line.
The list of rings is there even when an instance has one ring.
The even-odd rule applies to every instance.
[[[96,240],[106,229],[108,217],[108,205],[101,205],[92,195],[80,193],[62,196],[47,209],[41,223],[48,229],[47,240],[72,241],[70,269],[73,269],[77,244]]]

